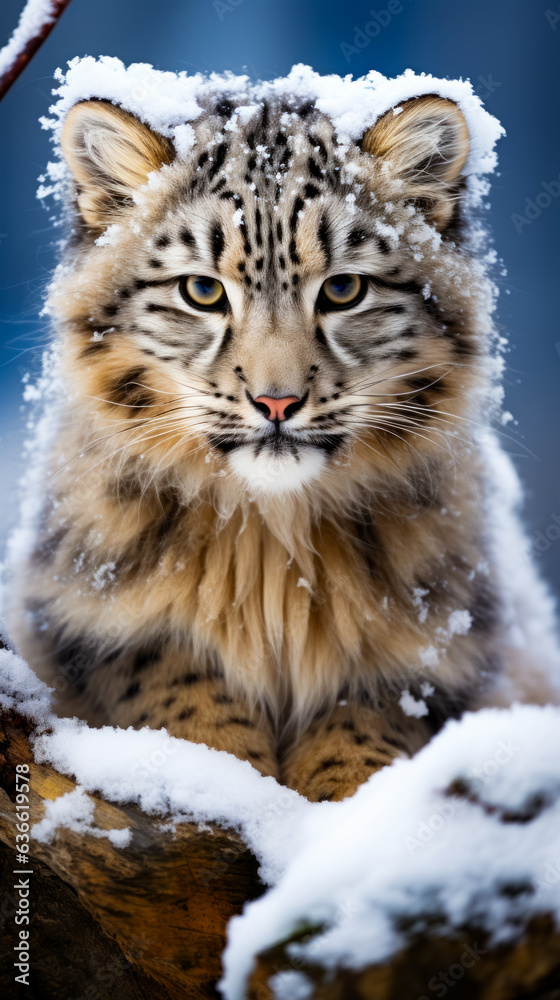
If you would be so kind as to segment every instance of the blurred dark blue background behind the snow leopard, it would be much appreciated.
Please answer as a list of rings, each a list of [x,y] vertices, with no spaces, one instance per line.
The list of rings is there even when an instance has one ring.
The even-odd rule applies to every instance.
[[[51,103],[56,67],[86,54],[265,79],[296,62],[354,76],[369,69],[394,76],[411,67],[469,77],[507,130],[488,213],[508,271],[498,320],[511,344],[506,407],[516,423],[508,424],[504,444],[526,486],[535,553],[560,594],[560,3],[547,2],[549,8],[536,0],[72,0],[0,104],[0,547],[17,517],[22,377],[37,370],[48,339],[39,311],[59,233],[35,192],[50,152],[38,118]],[[2,0],[0,47],[23,5]],[[368,39],[362,29],[372,11],[380,30]]]

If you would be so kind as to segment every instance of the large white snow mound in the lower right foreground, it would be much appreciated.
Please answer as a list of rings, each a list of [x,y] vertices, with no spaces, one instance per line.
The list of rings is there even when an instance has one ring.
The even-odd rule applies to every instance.
[[[389,958],[404,916],[470,922],[495,940],[540,911],[560,921],[559,755],[559,709],[487,709],[331,803],[328,823],[304,816],[304,846],[278,885],[230,923],[224,996],[241,1000],[253,957],[302,926],[324,929],[290,947],[300,970],[301,960],[359,968]],[[457,781],[472,801],[448,791]]]

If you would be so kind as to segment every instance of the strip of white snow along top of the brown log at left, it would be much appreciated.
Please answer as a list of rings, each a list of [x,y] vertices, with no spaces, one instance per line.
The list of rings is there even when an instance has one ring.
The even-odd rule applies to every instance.
[[[40,730],[35,759],[73,775],[78,790],[100,792],[112,802],[136,802],[170,823],[210,821],[238,830],[260,862],[264,882],[285,869],[303,815],[313,807],[297,792],[264,778],[246,761],[152,729],[90,729],[50,714],[48,689],[13,653],[0,651],[0,707],[18,709]],[[93,808],[82,794],[53,804],[33,835],[50,838],[56,825],[92,830]],[[322,803],[324,809],[329,803]],[[102,834],[106,835],[106,834]],[[126,842],[113,831],[115,844]]]

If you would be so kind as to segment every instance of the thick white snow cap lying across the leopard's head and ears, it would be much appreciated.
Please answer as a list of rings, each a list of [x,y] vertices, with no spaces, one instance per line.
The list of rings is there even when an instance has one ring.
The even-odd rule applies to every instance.
[[[53,131],[59,158],[64,119],[74,104],[89,98],[111,101],[137,115],[171,139],[179,157],[190,153],[194,144],[190,123],[200,117],[203,105],[213,94],[227,96],[235,107],[228,129],[235,128],[237,122],[246,124],[264,100],[289,94],[312,101],[332,120],[343,144],[360,140],[395,104],[421,94],[440,94],[455,101],[467,121],[471,149],[463,172],[471,179],[494,170],[494,146],[504,131],[496,118],[484,110],[468,80],[445,80],[412,70],[395,79],[371,70],[353,80],[351,76],[321,76],[309,66],[299,64],[285,77],[252,82],[248,76],[233,73],[189,76],[185,72],[155,70],[148,63],[126,67],[115,57],[86,56],[72,59],[67,72],[59,69],[55,77],[60,84],[54,91],[58,100],[50,108],[52,117],[43,118],[42,124]],[[60,198],[65,177],[60,159],[49,165],[47,173],[51,184],[42,184],[40,196]],[[480,183],[472,183],[471,199],[478,200],[484,191]]]

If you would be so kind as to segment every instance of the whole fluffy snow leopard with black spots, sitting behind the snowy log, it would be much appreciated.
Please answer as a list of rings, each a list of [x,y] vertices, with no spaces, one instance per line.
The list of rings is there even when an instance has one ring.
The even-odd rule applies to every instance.
[[[507,668],[480,428],[494,290],[453,100],[62,132],[59,412],[10,612],[60,713],[353,794]]]

